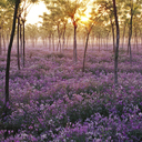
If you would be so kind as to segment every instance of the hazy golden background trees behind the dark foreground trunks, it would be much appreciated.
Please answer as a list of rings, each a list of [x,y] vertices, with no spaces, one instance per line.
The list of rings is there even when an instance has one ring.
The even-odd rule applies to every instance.
[[[34,47],[34,44],[37,43],[38,39],[42,39],[44,45],[48,44],[49,49],[52,48],[52,50],[59,50],[60,51],[62,49],[64,49],[64,44],[67,42],[67,47],[68,47],[68,41],[73,37],[73,27],[72,23],[69,19],[71,19],[70,17],[68,17],[67,14],[64,14],[61,10],[62,10],[62,6],[60,4],[62,1],[58,1],[58,3],[54,2],[50,2],[47,1],[47,8],[50,11],[49,13],[43,13],[43,16],[41,16],[41,18],[43,19],[43,23],[40,28],[38,28],[38,26],[32,26],[32,24],[28,24],[26,27],[26,41],[28,42],[28,40],[30,39],[32,41],[32,47]],[[82,1],[84,2],[84,1]],[[52,4],[53,6],[52,6]],[[60,7],[54,8],[55,4],[59,4]],[[70,1],[68,1],[68,3],[70,3]],[[74,3],[72,2],[72,4],[80,4],[80,1],[75,1]],[[87,3],[87,1],[85,1]],[[133,38],[133,43],[135,44],[134,47],[136,48],[138,52],[139,52],[139,43],[141,41],[142,43],[142,27],[141,27],[141,1],[118,1],[118,9],[119,9],[119,21],[120,21],[120,38],[121,38],[121,47],[123,48],[124,43],[128,43],[128,53],[131,53],[131,49],[130,49],[130,16],[131,16],[131,11],[130,8],[133,4],[133,22],[132,22],[132,36],[131,38]],[[7,7],[6,7],[7,6]],[[2,29],[0,30],[1,36],[0,36],[0,51],[2,52],[2,48],[6,52],[6,41],[8,41],[9,39],[9,33],[10,33],[10,26],[11,26],[11,21],[12,21],[12,17],[8,14],[11,14],[11,10],[13,10],[13,8],[11,7],[11,10],[9,9],[8,4],[6,4],[1,11],[3,11],[4,9],[4,14],[1,13],[1,19],[3,19],[2,17],[4,17],[3,20],[1,20],[1,27]],[[83,11],[77,11],[78,17],[77,17],[77,22],[78,22],[78,28],[77,28],[77,37],[78,39],[81,41],[85,41],[84,39],[87,38],[87,27],[88,27],[88,22],[93,22],[95,19],[95,16],[98,17],[98,14],[101,14],[102,12],[105,13],[103,16],[101,16],[98,20],[98,24],[94,24],[92,27],[91,33],[90,33],[90,39],[92,41],[92,47],[93,47],[93,42],[94,42],[94,38],[98,41],[98,47],[100,50],[100,47],[102,43],[105,44],[105,48],[108,48],[108,42],[110,42],[110,39],[112,38],[113,40],[113,51],[114,51],[114,39],[115,39],[115,29],[114,29],[114,14],[113,14],[113,6],[111,0],[95,0],[94,3],[94,9],[91,12],[91,21],[85,21],[82,24],[81,18],[80,16],[85,14],[84,10],[87,9],[87,4],[80,6],[80,7],[84,7]],[[97,11],[98,8],[98,11]],[[22,9],[22,8],[21,8]],[[61,10],[59,10],[61,9]],[[73,8],[72,8],[73,9]],[[79,8],[80,9],[80,8]],[[7,13],[6,13],[7,11]],[[23,11],[23,10],[21,10]],[[95,11],[95,12],[94,12]],[[59,14],[60,13],[60,14]],[[75,14],[77,14],[75,13]],[[70,14],[70,12],[69,12]],[[75,17],[74,14],[74,17]],[[64,20],[65,19],[65,20]],[[3,24],[4,21],[4,24]],[[7,21],[10,21],[9,23]],[[6,27],[8,23],[8,27]],[[4,27],[3,27],[4,26]],[[54,45],[54,40],[58,39],[58,45]],[[29,40],[29,41],[30,41]],[[78,41],[78,43],[80,42]],[[62,45],[61,45],[62,42]],[[2,44],[2,45],[1,45]],[[52,47],[51,47],[52,44]],[[85,44],[85,43],[84,43]],[[130,44],[130,45],[129,45]],[[57,49],[55,49],[57,48]],[[132,55],[131,55],[132,57]]]

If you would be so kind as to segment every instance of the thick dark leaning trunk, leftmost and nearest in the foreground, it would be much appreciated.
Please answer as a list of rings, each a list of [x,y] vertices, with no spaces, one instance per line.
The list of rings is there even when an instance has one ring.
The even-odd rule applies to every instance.
[[[11,48],[12,48],[12,42],[13,42],[13,37],[14,37],[14,31],[16,31],[16,20],[17,20],[17,13],[18,13],[19,3],[20,3],[20,0],[17,0],[16,1],[16,7],[14,7],[14,14],[13,14],[13,24],[12,24],[11,38],[10,38],[10,43],[9,43],[9,48],[8,48],[8,55],[7,55],[7,68],[6,68],[6,110],[4,110],[6,115],[7,115],[8,105],[9,105],[9,70],[10,70],[10,57],[11,57]]]

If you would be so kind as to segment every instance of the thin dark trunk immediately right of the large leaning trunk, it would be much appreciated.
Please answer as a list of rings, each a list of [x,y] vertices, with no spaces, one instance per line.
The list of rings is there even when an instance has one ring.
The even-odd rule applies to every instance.
[[[18,17],[18,31],[17,31],[18,70],[20,70],[20,58],[19,58],[19,24],[20,24],[20,19]]]

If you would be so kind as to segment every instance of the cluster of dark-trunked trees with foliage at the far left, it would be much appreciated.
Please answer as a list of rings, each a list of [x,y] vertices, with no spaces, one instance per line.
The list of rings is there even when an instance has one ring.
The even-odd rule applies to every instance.
[[[11,34],[10,34],[10,41],[9,41],[8,53],[7,53],[6,88],[4,88],[6,89],[6,92],[4,92],[6,102],[4,102],[4,106],[3,106],[4,113],[2,116],[8,115],[8,112],[9,112],[9,70],[10,70],[11,49],[12,49],[16,28],[17,28],[18,67],[20,69],[19,39],[20,39],[20,43],[21,43],[21,49],[23,49],[23,54],[21,53],[21,55],[22,55],[22,58],[24,58],[24,22],[26,22],[24,18],[26,18],[27,8],[28,8],[27,3],[31,3],[31,2],[34,3],[34,2],[38,2],[38,0],[2,0],[0,2],[2,12],[6,12],[7,10],[9,10],[9,8],[11,8],[13,11],[12,30],[11,30]],[[23,14],[23,17],[22,17],[22,14]],[[1,14],[1,17],[2,17],[2,14]],[[6,22],[6,23],[3,23],[3,22]],[[1,22],[1,29],[3,29],[3,27],[8,24],[7,20],[3,22]],[[16,23],[18,23],[17,27],[16,27]],[[21,26],[23,26],[23,28],[22,28],[23,30],[21,30]],[[19,33],[20,33],[20,37],[19,37]],[[1,50],[1,47],[0,47],[0,50]],[[24,62],[23,62],[23,67],[24,67]]]

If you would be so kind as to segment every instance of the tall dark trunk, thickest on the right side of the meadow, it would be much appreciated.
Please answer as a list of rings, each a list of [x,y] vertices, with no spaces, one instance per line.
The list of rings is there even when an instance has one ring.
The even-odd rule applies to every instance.
[[[115,0],[112,0],[112,1],[113,1],[113,10],[114,10],[114,17],[115,17],[115,27],[116,27],[116,48],[115,48],[115,54],[114,54],[114,84],[118,85],[118,58],[119,58],[120,30],[119,30]]]

